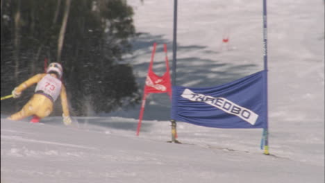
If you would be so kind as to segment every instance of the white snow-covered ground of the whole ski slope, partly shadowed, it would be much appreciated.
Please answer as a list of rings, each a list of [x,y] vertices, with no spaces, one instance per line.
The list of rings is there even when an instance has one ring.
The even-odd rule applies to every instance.
[[[144,85],[172,67],[174,1],[128,0],[140,37],[133,64]],[[262,130],[205,128],[178,122],[171,140],[167,94],[96,117],[40,124],[1,114],[1,183],[7,182],[324,182],[324,1],[268,1],[269,148]],[[262,1],[178,0],[177,85],[220,85],[263,69]],[[230,42],[222,44],[223,36]],[[8,99],[13,100],[13,99]]]

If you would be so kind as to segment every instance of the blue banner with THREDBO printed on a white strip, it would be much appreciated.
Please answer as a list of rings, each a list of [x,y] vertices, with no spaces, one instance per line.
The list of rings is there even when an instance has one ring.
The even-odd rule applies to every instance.
[[[267,128],[265,74],[217,87],[173,86],[171,119],[212,128]]]

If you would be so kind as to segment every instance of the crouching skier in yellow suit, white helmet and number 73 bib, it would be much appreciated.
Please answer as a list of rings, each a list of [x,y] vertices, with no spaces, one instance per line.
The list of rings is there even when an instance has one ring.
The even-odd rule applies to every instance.
[[[63,69],[61,64],[53,62],[47,67],[47,73],[39,73],[29,78],[12,91],[12,97],[18,98],[22,95],[24,89],[38,83],[35,88],[33,97],[22,107],[22,110],[12,114],[8,119],[20,120],[28,116],[34,115],[31,122],[38,123],[40,119],[49,116],[53,110],[53,103],[58,96],[61,98],[63,108],[63,122],[65,125],[72,123],[69,116],[69,108],[67,104],[67,93],[65,86],[61,82]]]

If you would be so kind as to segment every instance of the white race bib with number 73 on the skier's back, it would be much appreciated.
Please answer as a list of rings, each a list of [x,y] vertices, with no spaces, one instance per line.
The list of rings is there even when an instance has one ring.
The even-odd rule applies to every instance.
[[[53,98],[53,102],[56,101],[61,92],[62,82],[49,74],[44,76],[38,85],[36,86],[35,92],[43,91]]]

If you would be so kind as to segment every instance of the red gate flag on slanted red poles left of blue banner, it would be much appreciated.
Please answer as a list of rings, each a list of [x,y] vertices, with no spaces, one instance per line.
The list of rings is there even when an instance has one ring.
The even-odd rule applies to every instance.
[[[139,115],[139,123],[137,128],[137,136],[139,135],[140,128],[141,128],[141,121],[144,112],[144,105],[146,104],[146,98],[150,93],[167,93],[169,98],[172,98],[172,84],[170,82],[170,75],[169,75],[169,64],[168,64],[168,57],[167,57],[167,45],[164,44],[164,51],[165,51],[165,62],[166,62],[166,72],[163,76],[158,76],[152,70],[153,65],[153,57],[156,52],[156,42],[153,44],[153,51],[151,54],[151,61],[149,64],[148,74],[146,83],[144,85],[144,94],[142,97],[142,105]]]

